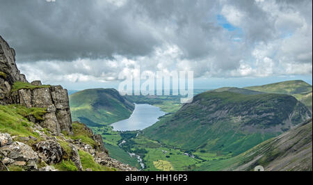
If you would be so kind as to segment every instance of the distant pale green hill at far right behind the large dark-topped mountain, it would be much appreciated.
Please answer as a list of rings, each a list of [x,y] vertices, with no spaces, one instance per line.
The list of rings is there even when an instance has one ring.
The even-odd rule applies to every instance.
[[[245,89],[264,93],[292,95],[303,102],[303,104],[312,111],[312,86],[302,80],[282,81],[279,83],[266,84],[264,86],[250,86]]]

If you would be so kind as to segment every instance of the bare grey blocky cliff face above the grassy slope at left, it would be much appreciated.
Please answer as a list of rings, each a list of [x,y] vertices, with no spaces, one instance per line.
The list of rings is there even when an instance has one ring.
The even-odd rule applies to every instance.
[[[67,90],[62,86],[40,88],[41,81],[32,81],[38,88],[22,88],[11,92],[13,83],[27,83],[25,75],[20,74],[15,63],[15,51],[0,36],[0,104],[22,104],[27,108],[47,108],[40,126],[59,134],[66,131],[72,134],[72,118]],[[35,121],[35,119],[33,119]]]

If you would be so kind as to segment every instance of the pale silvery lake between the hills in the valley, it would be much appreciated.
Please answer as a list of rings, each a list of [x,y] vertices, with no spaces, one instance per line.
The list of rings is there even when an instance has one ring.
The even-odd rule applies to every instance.
[[[115,131],[142,130],[156,123],[158,118],[166,113],[157,106],[150,104],[135,104],[135,109],[127,120],[111,124]]]

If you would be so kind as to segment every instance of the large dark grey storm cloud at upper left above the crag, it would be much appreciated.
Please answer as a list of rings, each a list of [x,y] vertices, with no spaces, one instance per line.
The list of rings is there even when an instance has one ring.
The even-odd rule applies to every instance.
[[[1,1],[0,33],[17,50],[19,61],[141,56],[159,44],[129,6],[82,0],[15,2]]]

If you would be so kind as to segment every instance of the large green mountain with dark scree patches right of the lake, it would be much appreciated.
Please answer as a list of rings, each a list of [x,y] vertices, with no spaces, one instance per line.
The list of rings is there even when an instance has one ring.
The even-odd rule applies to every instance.
[[[149,138],[182,150],[234,156],[311,116],[290,95],[208,91],[143,131]]]

